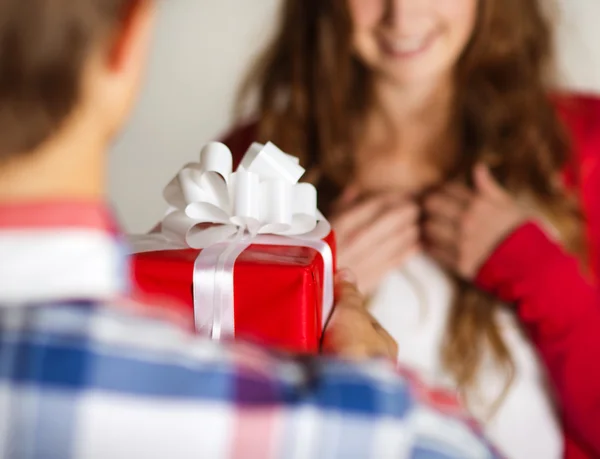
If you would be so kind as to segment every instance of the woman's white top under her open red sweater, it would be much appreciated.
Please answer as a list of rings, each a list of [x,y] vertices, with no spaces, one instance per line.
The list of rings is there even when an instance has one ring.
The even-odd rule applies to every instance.
[[[387,276],[373,297],[371,311],[398,342],[398,361],[425,381],[454,389],[456,383],[442,370],[440,361],[453,295],[448,275],[420,254]],[[511,313],[502,311],[497,320],[515,362],[515,378],[490,418],[505,377],[491,360],[485,362],[468,409],[508,458],[561,458],[562,433],[537,354]]]

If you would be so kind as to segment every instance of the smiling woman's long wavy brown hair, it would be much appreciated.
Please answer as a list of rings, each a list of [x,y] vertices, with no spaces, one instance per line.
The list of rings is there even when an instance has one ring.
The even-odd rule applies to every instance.
[[[358,126],[373,100],[369,71],[353,54],[346,4],[286,0],[275,39],[242,86],[237,106],[242,116],[250,100],[257,103],[259,140],[274,141],[319,171],[320,184],[330,185],[323,187],[328,200],[353,177]],[[458,120],[460,154],[444,173],[468,181],[474,164],[487,163],[511,193],[558,228],[569,250],[581,254],[579,207],[557,180],[570,144],[548,93],[552,45],[541,1],[480,0],[455,71],[451,118]],[[506,391],[514,365],[495,320],[498,302],[456,282],[442,361],[466,394],[491,350],[506,371]]]

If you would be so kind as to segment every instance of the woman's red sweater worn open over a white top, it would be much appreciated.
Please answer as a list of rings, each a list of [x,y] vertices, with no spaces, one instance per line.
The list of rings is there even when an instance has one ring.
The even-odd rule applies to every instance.
[[[600,99],[569,97],[557,110],[573,142],[566,184],[583,205],[592,275],[537,225],[513,232],[481,269],[477,285],[515,303],[546,364],[565,432],[565,458],[600,457]],[[234,131],[224,142],[239,156],[255,127]],[[575,179],[577,178],[577,179]]]

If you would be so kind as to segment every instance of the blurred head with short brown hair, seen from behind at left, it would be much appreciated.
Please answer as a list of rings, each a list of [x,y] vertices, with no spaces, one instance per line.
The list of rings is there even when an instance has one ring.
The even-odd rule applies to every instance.
[[[0,165],[70,131],[106,146],[135,99],[153,3],[0,0]]]

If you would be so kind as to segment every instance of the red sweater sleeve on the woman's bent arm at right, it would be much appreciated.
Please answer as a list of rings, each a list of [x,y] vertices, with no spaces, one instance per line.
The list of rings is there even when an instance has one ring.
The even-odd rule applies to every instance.
[[[600,293],[535,224],[513,233],[479,285],[518,305],[557,391],[566,427],[600,455]]]

